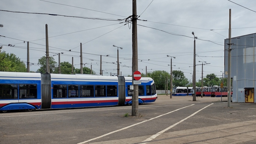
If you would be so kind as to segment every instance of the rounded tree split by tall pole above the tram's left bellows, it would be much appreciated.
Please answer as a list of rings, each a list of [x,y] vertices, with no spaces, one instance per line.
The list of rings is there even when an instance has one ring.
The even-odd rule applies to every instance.
[[[40,59],[38,59],[38,63],[41,65],[41,67],[37,70],[38,72],[46,73],[46,57],[43,56]],[[54,60],[53,57],[49,57],[49,64],[50,64],[50,71],[49,73],[58,73],[55,69],[58,69],[57,62]]]

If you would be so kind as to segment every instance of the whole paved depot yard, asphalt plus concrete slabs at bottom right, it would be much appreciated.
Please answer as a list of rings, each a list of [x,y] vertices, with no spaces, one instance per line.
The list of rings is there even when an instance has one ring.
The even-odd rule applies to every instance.
[[[128,114],[128,117],[124,115]],[[256,104],[159,95],[151,104],[0,113],[0,143],[256,143]]]

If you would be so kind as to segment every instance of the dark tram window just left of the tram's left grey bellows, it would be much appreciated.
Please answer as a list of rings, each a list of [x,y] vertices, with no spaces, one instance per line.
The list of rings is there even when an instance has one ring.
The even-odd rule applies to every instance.
[[[37,98],[37,84],[19,84],[19,98]]]

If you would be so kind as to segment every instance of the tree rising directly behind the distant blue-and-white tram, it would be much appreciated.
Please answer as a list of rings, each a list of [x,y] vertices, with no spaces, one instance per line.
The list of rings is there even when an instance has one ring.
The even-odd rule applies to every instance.
[[[174,87],[185,87],[189,80],[184,76],[184,73],[179,70],[172,71],[173,75],[173,86]]]

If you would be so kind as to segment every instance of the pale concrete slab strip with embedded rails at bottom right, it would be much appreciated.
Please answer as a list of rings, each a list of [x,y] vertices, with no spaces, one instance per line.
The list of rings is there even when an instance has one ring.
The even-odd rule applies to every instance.
[[[256,117],[255,117],[256,118]],[[169,133],[162,133],[151,141],[145,139],[151,137],[146,135],[143,137],[125,138],[111,141],[89,142],[87,144],[255,144],[256,143],[256,119],[255,121],[245,121],[230,123],[224,125],[216,125],[209,127],[202,127],[198,129],[189,129],[181,131],[173,131]]]

